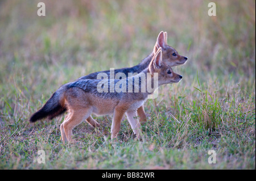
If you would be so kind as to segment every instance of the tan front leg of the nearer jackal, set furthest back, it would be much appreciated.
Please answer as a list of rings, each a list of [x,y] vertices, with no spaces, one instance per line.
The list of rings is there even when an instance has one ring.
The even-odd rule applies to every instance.
[[[123,118],[123,115],[125,114],[125,111],[123,108],[115,108],[113,120],[112,120],[112,127],[111,127],[111,139],[117,138],[117,134],[120,131],[121,127],[121,121]]]

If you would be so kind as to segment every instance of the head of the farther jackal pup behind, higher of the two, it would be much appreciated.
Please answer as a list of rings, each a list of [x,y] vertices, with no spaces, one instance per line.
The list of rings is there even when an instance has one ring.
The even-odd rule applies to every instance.
[[[162,48],[163,62],[169,66],[182,65],[188,60],[187,57],[181,56],[174,48],[167,45],[167,32],[161,31],[159,33],[154,47],[154,54],[160,47]]]

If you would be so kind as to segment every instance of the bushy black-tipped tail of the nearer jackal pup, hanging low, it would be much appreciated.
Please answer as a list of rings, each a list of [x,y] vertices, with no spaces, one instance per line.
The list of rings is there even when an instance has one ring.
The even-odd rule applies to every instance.
[[[30,122],[34,123],[37,120],[43,119],[47,117],[48,119],[53,119],[56,116],[61,115],[67,111],[67,108],[65,107],[64,104],[64,90],[59,89],[54,94],[52,94],[51,98],[47,100],[46,104],[35,112],[31,117],[30,117]]]

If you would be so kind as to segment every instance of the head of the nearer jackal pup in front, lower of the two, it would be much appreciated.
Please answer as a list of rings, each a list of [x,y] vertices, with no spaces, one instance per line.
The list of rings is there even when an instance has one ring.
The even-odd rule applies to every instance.
[[[151,75],[158,73],[158,85],[166,83],[176,83],[182,78],[181,75],[174,73],[172,68],[162,60],[162,48],[160,47],[152,58],[149,70]]]

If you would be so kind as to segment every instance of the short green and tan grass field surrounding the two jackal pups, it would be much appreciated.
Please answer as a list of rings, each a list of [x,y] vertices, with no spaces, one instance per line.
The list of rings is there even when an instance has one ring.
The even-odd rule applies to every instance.
[[[203,0],[42,0],[46,16],[38,2],[0,1],[0,169],[255,169],[255,1],[212,1],[216,16]],[[112,116],[77,126],[75,145],[64,116],[29,123],[64,83],[137,65],[160,31],[188,62],[144,104],[144,141],[124,120],[113,144]]]

